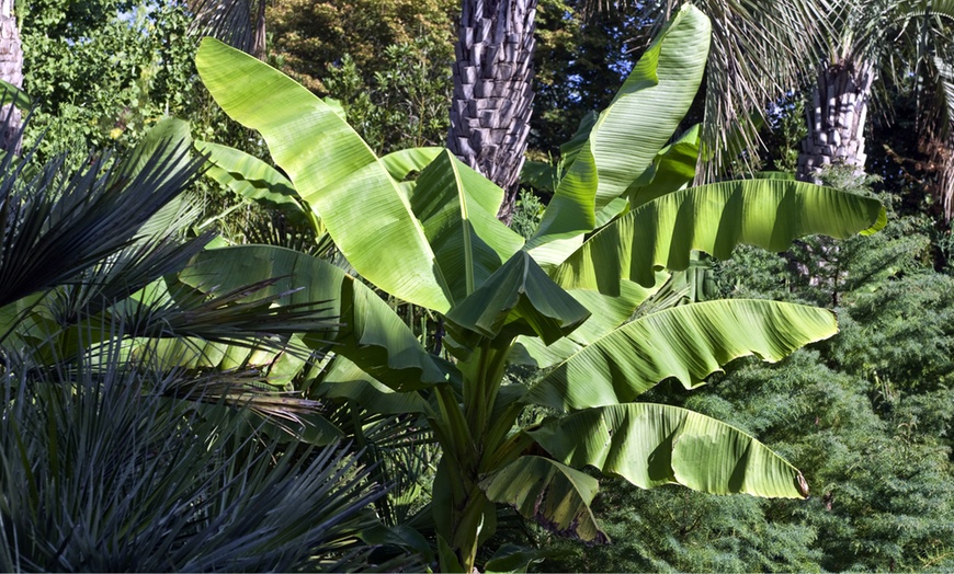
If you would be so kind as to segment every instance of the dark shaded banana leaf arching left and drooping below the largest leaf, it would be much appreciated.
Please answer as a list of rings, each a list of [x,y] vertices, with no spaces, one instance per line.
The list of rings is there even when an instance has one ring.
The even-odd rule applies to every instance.
[[[238,289],[277,278],[255,297],[282,294],[282,305],[327,301],[337,329],[311,332],[305,343],[331,351],[359,365],[395,390],[412,390],[445,381],[443,370],[413,333],[374,291],[338,267],[310,255],[272,245],[237,245],[200,253],[179,279],[209,290]]]

